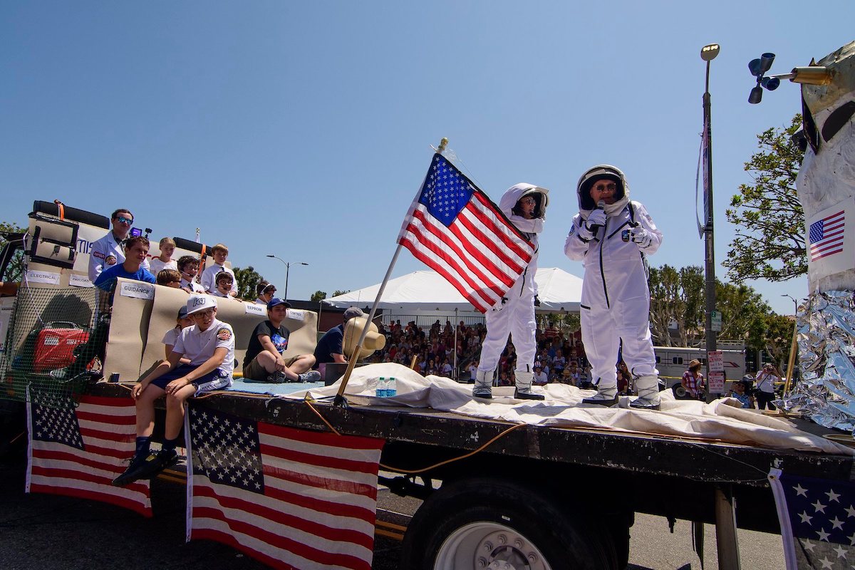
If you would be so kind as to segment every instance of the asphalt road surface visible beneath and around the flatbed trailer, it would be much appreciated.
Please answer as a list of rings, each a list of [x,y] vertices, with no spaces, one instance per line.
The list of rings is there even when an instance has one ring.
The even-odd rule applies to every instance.
[[[261,570],[257,561],[209,541],[184,542],[185,487],[156,480],[153,519],[122,508],[74,497],[26,495],[26,460],[21,453],[0,460],[0,561],[4,570],[146,570],[204,568]],[[418,501],[380,491],[380,519],[405,522]],[[393,526],[378,526],[374,570],[399,570],[400,542],[384,536]],[[715,530],[706,527],[704,567],[716,568]],[[689,523],[677,521],[671,534],[662,517],[637,515],[630,543],[630,570],[700,568],[693,553]],[[740,557],[746,570],[783,567],[781,538],[741,531]],[[400,569],[404,570],[404,569]]]

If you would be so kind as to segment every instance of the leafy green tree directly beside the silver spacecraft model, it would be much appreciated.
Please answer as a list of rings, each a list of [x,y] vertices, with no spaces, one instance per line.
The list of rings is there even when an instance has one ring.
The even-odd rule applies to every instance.
[[[795,115],[787,128],[758,134],[760,151],[745,163],[754,184],[740,185],[726,210],[736,235],[723,265],[736,283],[786,281],[807,273],[805,212],[795,184],[804,153],[791,141],[801,120]]]

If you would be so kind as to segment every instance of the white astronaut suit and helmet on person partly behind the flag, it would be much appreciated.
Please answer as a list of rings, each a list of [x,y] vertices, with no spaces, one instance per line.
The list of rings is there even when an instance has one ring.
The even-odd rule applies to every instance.
[[[549,203],[548,192],[545,188],[521,183],[505,191],[498,203],[502,213],[534,244],[534,256],[505,294],[502,303],[485,314],[486,338],[481,344],[481,362],[475,373],[475,387],[472,390],[475,397],[492,397],[492,379],[498,366],[498,357],[508,342],[510,332],[516,348],[515,397],[527,400],[544,398],[532,391],[534,353],[537,349],[534,340],[534,297],[537,295],[534,274],[537,273],[538,234],[543,232],[546,206]],[[534,209],[528,214],[532,216],[530,219],[525,217],[526,206],[520,204],[523,197],[529,196],[534,198]]]

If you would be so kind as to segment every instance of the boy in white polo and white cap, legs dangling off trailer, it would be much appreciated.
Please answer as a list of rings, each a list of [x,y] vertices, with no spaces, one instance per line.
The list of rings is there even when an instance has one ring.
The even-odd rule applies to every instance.
[[[131,395],[137,401],[137,450],[125,473],[116,477],[113,485],[124,486],[138,479],[149,479],[174,465],[178,461],[175,447],[184,424],[186,400],[232,385],[234,332],[230,325],[216,319],[216,299],[209,295],[192,295],[186,307],[193,325],[175,338],[168,359],[133,386]],[[189,358],[190,363],[181,364],[182,356]],[[164,394],[163,445],[159,452],[151,453],[155,400]]]

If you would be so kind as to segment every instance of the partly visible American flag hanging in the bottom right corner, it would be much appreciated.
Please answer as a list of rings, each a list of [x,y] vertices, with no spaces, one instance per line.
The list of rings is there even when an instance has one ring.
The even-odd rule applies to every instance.
[[[769,470],[787,570],[839,570],[855,562],[855,485]]]

